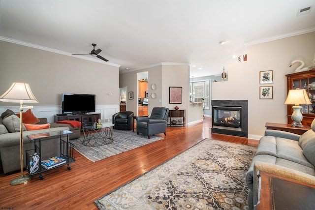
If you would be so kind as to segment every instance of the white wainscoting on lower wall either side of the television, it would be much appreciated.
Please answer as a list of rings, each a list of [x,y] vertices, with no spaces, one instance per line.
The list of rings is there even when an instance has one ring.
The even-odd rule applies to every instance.
[[[2,106],[0,107],[0,114],[7,109],[12,110],[15,113],[19,113],[20,106]],[[26,112],[29,108],[24,108],[23,112]],[[48,123],[55,121],[55,115],[62,113],[61,106],[33,106],[32,113],[37,118],[47,118]],[[100,117],[104,122],[112,121],[112,116],[119,112],[119,104],[114,105],[96,105],[95,113],[100,113]]]

